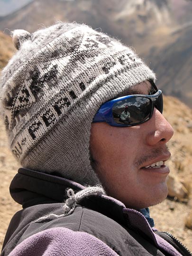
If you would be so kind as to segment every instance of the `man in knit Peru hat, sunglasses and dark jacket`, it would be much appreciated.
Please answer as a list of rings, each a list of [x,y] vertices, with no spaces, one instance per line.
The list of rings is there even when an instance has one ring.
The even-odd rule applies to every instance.
[[[173,136],[155,74],[130,48],[85,25],[16,30],[13,41],[1,111],[22,166],[10,193],[23,210],[1,255],[191,255],[154,228],[148,211],[167,195]],[[132,121],[116,121],[130,101]]]

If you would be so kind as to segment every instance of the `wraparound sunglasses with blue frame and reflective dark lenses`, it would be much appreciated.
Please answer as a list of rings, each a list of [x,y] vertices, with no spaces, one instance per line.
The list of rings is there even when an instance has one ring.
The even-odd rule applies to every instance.
[[[92,122],[106,122],[118,127],[136,126],[148,121],[154,108],[163,112],[161,90],[153,95],[133,94],[107,101],[101,105]]]

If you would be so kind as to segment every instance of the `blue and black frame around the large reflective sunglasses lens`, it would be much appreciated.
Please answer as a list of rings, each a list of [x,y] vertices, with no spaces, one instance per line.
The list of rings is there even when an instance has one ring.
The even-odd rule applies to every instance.
[[[137,122],[137,123],[132,123],[132,124],[119,124],[115,122],[113,118],[113,105],[119,101],[124,101],[127,99],[132,99],[132,98],[147,98],[150,101],[150,113],[147,119],[144,119],[143,121]],[[142,123],[145,123],[148,121],[152,115],[154,108],[159,110],[161,113],[163,113],[163,95],[162,91],[158,90],[155,94],[152,95],[145,95],[145,94],[132,94],[132,95],[127,95],[123,97],[119,97],[117,99],[107,101],[103,103],[100,107],[100,109],[97,111],[95,114],[92,122],[97,123],[97,122],[106,122],[111,126],[117,126],[117,127],[130,127],[130,126],[136,126]]]

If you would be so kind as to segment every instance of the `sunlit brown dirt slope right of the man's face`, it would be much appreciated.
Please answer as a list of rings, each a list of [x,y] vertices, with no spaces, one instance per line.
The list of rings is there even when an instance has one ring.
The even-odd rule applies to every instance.
[[[168,143],[172,153],[168,162],[170,175],[178,182],[177,187],[184,185],[187,194],[181,201],[176,197],[166,199],[150,211],[157,229],[170,232],[192,251],[192,229],[185,227],[187,216],[192,225],[192,110],[174,97],[164,98],[164,116],[174,127],[174,136]]]

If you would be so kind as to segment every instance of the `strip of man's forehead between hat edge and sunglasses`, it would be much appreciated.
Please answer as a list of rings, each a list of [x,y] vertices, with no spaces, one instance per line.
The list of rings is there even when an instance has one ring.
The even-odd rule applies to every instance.
[[[118,94],[118,97],[123,97],[130,94],[149,94],[151,91],[154,91],[154,87],[149,81],[140,82],[134,85],[132,88],[123,91],[122,93]]]

